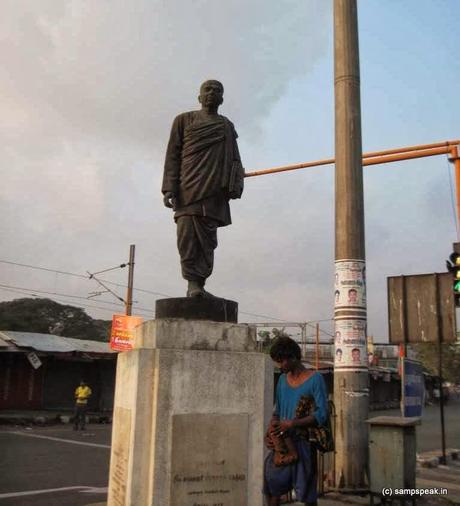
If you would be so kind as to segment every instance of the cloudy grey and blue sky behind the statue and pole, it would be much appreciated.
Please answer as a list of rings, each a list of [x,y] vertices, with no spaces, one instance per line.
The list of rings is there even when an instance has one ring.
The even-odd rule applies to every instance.
[[[460,138],[459,22],[456,0],[359,2],[364,151]],[[123,308],[88,299],[100,287],[84,276],[127,261],[130,244],[136,314],[184,294],[160,186],[172,119],[207,78],[225,85],[247,171],[334,155],[329,0],[4,0],[0,36],[0,300],[48,296],[110,319]],[[377,341],[386,277],[445,270],[452,177],[444,156],[364,169]],[[243,322],[330,319],[333,166],[249,178],[232,215],[209,290]],[[101,278],[125,284],[127,270]]]

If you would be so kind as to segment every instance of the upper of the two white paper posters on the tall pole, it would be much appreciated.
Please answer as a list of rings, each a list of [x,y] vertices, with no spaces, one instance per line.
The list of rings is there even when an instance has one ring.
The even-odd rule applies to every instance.
[[[337,260],[334,282],[335,309],[366,309],[366,263]]]

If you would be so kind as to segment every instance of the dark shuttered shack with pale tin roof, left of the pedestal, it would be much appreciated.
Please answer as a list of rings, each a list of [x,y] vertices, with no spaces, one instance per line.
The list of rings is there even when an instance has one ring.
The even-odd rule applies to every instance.
[[[112,410],[116,357],[100,341],[0,331],[0,409],[73,409],[84,379],[89,410]]]

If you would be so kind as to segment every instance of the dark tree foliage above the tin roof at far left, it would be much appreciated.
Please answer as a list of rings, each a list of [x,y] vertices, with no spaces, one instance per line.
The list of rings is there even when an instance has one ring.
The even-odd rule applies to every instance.
[[[95,320],[81,308],[50,299],[0,302],[0,329],[108,341],[111,322]]]

